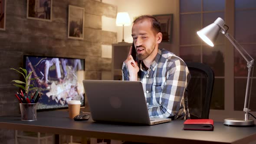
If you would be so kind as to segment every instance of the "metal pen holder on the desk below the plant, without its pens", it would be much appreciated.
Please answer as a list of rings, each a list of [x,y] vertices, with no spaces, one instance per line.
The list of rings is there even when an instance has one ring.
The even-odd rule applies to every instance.
[[[20,103],[21,121],[36,121],[36,104]]]

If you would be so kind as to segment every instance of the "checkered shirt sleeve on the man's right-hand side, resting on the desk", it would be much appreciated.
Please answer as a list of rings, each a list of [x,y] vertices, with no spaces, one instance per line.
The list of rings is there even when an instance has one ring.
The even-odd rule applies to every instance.
[[[186,115],[184,92],[189,81],[187,65],[181,59],[176,59],[165,69],[167,70],[165,85],[157,94],[160,105],[148,108],[149,115],[158,118],[184,118]]]

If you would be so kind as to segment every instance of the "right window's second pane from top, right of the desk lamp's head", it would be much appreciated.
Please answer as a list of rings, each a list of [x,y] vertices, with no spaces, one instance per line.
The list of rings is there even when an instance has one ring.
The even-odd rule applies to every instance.
[[[255,43],[256,10],[236,11],[235,39],[239,43]]]

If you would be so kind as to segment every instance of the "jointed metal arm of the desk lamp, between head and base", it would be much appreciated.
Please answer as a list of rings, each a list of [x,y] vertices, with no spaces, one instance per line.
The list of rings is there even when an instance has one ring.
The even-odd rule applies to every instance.
[[[221,28],[221,29],[223,30],[223,28]],[[247,100],[248,100],[248,91],[249,91],[249,81],[250,81],[251,68],[253,68],[254,59],[252,58],[252,56],[250,56],[248,54],[248,52],[246,52],[245,49],[243,49],[242,46],[239,45],[239,43],[236,42],[236,40],[232,36],[229,35],[229,33],[226,33],[225,30],[223,30],[222,33],[226,36],[226,38],[230,41],[230,43],[233,44],[233,46],[236,48],[236,50],[243,56],[243,58],[247,62],[248,75],[247,75],[246,94],[245,94],[244,108],[243,108],[243,111],[245,112],[245,121],[246,121],[246,120],[249,119],[248,112],[250,111],[250,109],[247,108]],[[234,42],[237,43],[237,45]],[[247,59],[246,56],[244,56],[243,52],[241,52],[241,50],[237,46],[240,46],[240,49],[242,49],[246,53],[246,55],[249,56],[250,60]],[[252,80],[251,80],[251,85],[250,85],[250,91],[251,91],[251,88],[252,88]],[[251,93],[249,92],[249,97],[250,97],[250,94]]]

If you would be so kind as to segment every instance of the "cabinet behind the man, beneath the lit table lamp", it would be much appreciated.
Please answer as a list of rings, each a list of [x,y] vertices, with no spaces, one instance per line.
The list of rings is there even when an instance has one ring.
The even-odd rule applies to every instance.
[[[122,80],[122,65],[128,56],[132,43],[112,44],[112,79]]]

